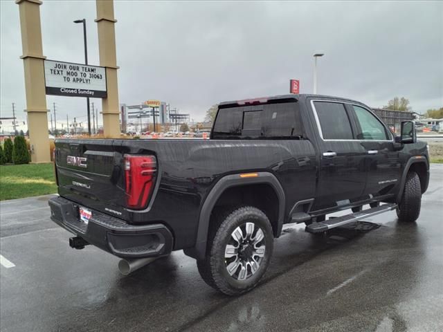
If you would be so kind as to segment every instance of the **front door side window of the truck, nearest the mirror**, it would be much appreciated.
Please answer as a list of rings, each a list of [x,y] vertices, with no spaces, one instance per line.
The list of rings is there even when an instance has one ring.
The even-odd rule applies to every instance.
[[[359,132],[356,133],[358,140],[389,140],[385,127],[374,114],[363,107],[352,107],[360,124]]]

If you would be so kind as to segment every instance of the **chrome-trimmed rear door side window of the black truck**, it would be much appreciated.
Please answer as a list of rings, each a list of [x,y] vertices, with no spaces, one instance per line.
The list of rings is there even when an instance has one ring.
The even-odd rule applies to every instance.
[[[339,102],[314,102],[325,140],[353,140],[345,105]]]

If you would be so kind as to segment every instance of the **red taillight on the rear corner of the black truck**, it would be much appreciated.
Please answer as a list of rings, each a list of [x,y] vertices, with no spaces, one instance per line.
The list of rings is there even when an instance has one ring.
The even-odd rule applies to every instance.
[[[154,189],[157,170],[155,156],[132,156],[125,154],[126,206],[143,209]]]

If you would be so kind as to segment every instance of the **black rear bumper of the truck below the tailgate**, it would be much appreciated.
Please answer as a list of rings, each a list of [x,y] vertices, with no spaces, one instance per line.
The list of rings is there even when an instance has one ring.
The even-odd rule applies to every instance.
[[[89,223],[80,219],[78,204],[62,197],[48,201],[51,220],[102,250],[122,258],[159,257],[172,251],[173,237],[162,224],[129,225],[92,210]]]

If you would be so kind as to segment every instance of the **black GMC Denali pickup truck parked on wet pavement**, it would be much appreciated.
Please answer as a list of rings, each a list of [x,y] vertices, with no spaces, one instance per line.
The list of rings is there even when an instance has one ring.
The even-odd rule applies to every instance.
[[[184,250],[227,295],[257,285],[283,224],[322,233],[390,210],[414,222],[429,181],[413,122],[395,136],[365,104],[323,95],[222,102],[210,140],[55,147],[51,219],[75,234],[73,248],[92,244],[131,264]]]

